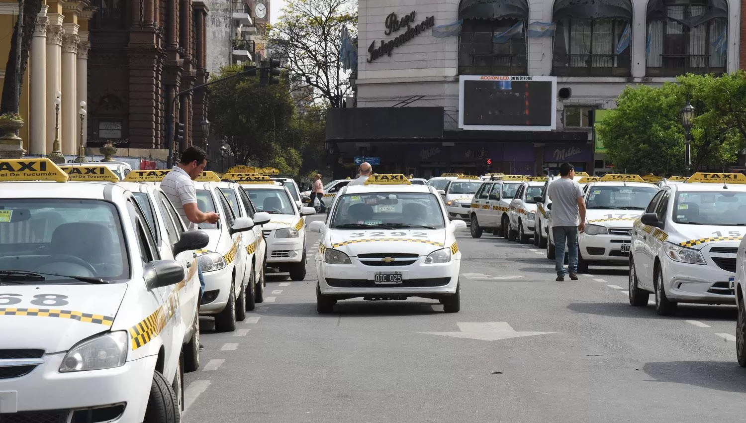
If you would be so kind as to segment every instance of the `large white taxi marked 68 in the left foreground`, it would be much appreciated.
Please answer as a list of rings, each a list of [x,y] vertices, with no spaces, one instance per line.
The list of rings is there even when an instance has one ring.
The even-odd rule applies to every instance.
[[[193,259],[163,260],[128,190],[69,178],[46,158],[0,161],[2,419],[178,421]],[[173,256],[206,238],[182,234]]]

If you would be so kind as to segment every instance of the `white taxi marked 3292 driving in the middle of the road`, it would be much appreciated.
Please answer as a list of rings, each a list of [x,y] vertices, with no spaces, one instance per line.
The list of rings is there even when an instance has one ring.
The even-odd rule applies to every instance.
[[[336,301],[437,299],[446,313],[460,310],[461,252],[435,187],[412,185],[404,175],[372,175],[339,193],[316,252],[316,308],[332,313]]]

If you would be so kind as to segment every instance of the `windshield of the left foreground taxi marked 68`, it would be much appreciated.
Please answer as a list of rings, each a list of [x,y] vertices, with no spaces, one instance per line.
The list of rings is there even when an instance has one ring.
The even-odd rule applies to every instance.
[[[116,207],[103,200],[3,198],[0,272],[9,270],[40,272],[45,283],[77,283],[66,276],[128,279]]]

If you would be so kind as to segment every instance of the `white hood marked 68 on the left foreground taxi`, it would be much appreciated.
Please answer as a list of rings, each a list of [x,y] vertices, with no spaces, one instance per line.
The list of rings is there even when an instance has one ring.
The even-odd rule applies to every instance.
[[[127,287],[126,283],[2,286],[4,293],[13,294],[13,303],[0,305],[1,345],[46,354],[67,351],[82,339],[110,330]]]

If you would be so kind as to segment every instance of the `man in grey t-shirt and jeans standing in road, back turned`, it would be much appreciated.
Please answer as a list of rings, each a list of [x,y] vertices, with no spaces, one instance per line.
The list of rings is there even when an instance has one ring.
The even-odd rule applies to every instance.
[[[547,187],[547,196],[552,201],[549,226],[554,239],[554,269],[557,281],[565,281],[566,243],[570,279],[577,281],[577,234],[586,230],[586,204],[583,189],[573,181],[575,171],[570,163],[560,165],[560,176]]]

